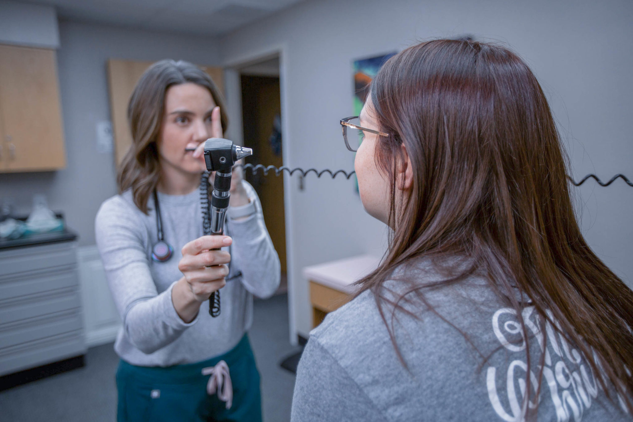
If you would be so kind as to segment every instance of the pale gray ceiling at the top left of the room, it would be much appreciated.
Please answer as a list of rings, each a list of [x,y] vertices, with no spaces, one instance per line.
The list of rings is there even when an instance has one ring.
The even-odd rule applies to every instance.
[[[30,0],[60,18],[192,35],[220,35],[303,0]]]

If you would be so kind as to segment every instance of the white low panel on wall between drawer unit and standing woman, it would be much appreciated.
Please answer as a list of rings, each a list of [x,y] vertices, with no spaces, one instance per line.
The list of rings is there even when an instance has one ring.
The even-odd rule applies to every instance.
[[[84,311],[85,345],[94,347],[113,342],[121,327],[121,320],[96,245],[77,248],[77,265]]]

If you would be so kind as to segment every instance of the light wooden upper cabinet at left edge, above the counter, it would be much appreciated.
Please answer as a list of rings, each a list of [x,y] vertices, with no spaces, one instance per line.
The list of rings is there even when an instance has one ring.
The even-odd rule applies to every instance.
[[[66,164],[55,51],[0,45],[2,171]]]

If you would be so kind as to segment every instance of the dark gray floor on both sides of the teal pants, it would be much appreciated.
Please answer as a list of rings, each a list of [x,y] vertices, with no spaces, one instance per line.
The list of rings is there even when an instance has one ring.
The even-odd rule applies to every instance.
[[[289,344],[287,296],[255,301],[249,332],[261,373],[264,420],[290,419],[294,375],[280,361],[298,351]],[[116,419],[112,344],[89,349],[86,366],[0,392],[0,419],[11,422],[113,422]]]

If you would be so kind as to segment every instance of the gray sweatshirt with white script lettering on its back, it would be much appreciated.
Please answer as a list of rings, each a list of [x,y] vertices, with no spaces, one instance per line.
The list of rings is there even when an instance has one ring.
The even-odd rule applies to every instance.
[[[422,282],[440,279],[428,263],[416,271]],[[402,282],[386,285],[403,289]],[[522,421],[526,359],[515,311],[478,276],[425,296],[440,316],[403,302],[420,319],[399,311],[392,319],[393,308],[384,307],[409,371],[396,356],[372,292],[330,313],[310,333],[299,362],[292,421]],[[547,339],[537,420],[630,421],[617,396],[606,399],[563,337],[551,326],[539,333],[533,311],[526,306],[523,317],[535,382]]]

